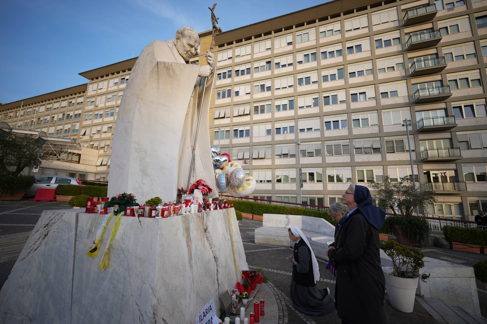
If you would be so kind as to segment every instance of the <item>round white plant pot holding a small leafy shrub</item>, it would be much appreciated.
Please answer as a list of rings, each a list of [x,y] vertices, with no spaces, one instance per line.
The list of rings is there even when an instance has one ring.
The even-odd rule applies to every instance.
[[[418,278],[399,278],[392,275],[392,268],[384,267],[386,290],[392,307],[404,313],[412,313]]]

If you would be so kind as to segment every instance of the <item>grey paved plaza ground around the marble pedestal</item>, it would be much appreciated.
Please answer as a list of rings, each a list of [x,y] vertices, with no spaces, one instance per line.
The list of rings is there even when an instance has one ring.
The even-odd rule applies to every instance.
[[[0,238],[32,231],[43,210],[66,208],[70,207],[65,202],[0,201]],[[264,274],[269,279],[267,286],[276,298],[279,313],[279,321],[276,321],[276,323],[341,323],[337,317],[336,310],[321,316],[308,316],[296,310],[289,296],[292,269],[288,256],[292,253],[292,249],[255,244],[254,230],[261,226],[262,222],[255,220],[244,219],[239,222],[249,268],[250,270],[263,268]],[[466,266],[472,266],[479,260],[487,259],[487,255],[477,255],[433,246],[424,247],[422,250],[426,256]],[[318,259],[318,264],[320,268],[318,287],[329,287],[332,295],[334,295],[335,277],[326,270],[325,261]],[[0,287],[7,279],[13,265],[14,263],[0,265]],[[485,316],[487,314],[487,285],[477,280],[477,290],[481,312]],[[363,298],[367,298],[367,291],[363,291]],[[351,311],[353,311],[353,306],[351,306]],[[384,301],[384,311],[388,323],[447,323],[442,322],[441,319],[435,319],[434,314],[432,315],[423,307],[418,299],[414,303],[414,311],[412,313],[403,313],[395,310],[391,307],[387,293]]]

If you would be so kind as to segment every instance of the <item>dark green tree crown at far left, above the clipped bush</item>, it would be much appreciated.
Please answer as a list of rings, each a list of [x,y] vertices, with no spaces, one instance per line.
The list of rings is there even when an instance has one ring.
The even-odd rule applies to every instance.
[[[37,160],[44,158],[45,142],[37,136],[0,129],[0,173],[19,175],[26,167],[33,167]]]

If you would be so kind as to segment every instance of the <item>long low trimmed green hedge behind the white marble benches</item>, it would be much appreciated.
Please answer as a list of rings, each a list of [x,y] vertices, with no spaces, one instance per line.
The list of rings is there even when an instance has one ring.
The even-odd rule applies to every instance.
[[[242,213],[249,213],[255,215],[263,215],[263,214],[303,215],[303,216],[322,218],[332,223],[333,225],[336,224],[336,222],[332,221],[331,216],[328,215],[328,212],[326,211],[318,211],[318,210],[305,209],[300,207],[263,204],[263,203],[249,202],[243,200],[232,200],[232,202],[233,202],[233,207],[235,209],[238,209]]]

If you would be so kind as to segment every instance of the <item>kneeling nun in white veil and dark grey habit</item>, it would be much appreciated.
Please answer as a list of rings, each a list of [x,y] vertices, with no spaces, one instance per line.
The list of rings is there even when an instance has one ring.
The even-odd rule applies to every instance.
[[[332,311],[335,301],[330,289],[318,290],[316,286],[319,280],[318,261],[308,239],[298,226],[291,226],[288,232],[289,238],[296,242],[293,254],[289,256],[293,263],[290,294],[294,306],[302,313],[315,316]]]

